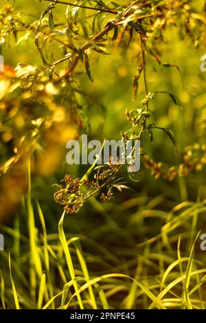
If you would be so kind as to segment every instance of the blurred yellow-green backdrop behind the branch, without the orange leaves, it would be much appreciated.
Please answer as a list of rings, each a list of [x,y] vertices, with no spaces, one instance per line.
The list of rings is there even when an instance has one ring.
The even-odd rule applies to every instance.
[[[118,3],[124,3],[124,1],[118,1]],[[4,4],[4,1],[0,0],[0,5]],[[14,10],[27,14],[27,21],[39,19],[48,4],[37,0],[16,0],[12,3]],[[203,5],[204,1],[194,1],[197,12],[203,11]],[[65,22],[64,5],[56,5],[54,20],[56,23]],[[105,23],[106,21],[108,21],[108,16]],[[150,102],[151,122],[159,127],[170,128],[174,132],[179,146],[178,151],[163,131],[154,131],[152,143],[149,135],[144,135],[143,140],[141,140],[144,151],[155,161],[165,164],[165,169],[181,163],[185,147],[205,144],[206,72],[201,71],[200,65],[202,63],[201,56],[206,54],[206,42],[203,38],[203,41],[198,43],[198,36],[201,35],[196,35],[195,41],[187,34],[181,34],[175,26],[171,26],[164,32],[165,43],[157,40],[156,48],[159,51],[161,62],[177,65],[181,75],[176,67],[163,67],[150,54],[146,54],[146,75],[149,91],[167,91],[174,94],[181,102],[181,107],[174,104],[170,96],[165,93],[157,93]],[[86,73],[77,76],[77,80],[89,98],[89,100],[86,100],[79,96],[78,100],[79,104],[85,108],[84,118],[87,121],[90,139],[101,140],[101,142],[104,141],[104,138],[119,140],[121,131],[126,131],[129,126],[125,118],[126,109],[139,109],[141,107],[140,102],[144,98],[142,76],[139,80],[137,100],[135,101],[133,101],[132,86],[132,78],[137,73],[138,50],[139,40],[137,35],[134,35],[128,48],[126,48],[126,41],[120,47],[111,43],[108,48],[109,55],[100,55],[89,51],[94,82],[90,82]],[[14,45],[14,40],[10,37],[10,41],[2,46],[2,54],[5,58],[5,64],[12,68],[19,62],[43,67],[38,49],[34,45],[33,36],[29,36],[26,41],[21,41],[19,45]],[[80,63],[78,71],[82,71],[82,69],[84,67]],[[66,153],[65,148],[63,154],[65,157]],[[41,205],[47,234],[49,234],[49,242],[54,245],[54,250],[58,232],[57,225],[62,214],[62,208],[54,201],[56,188],[53,184],[59,183],[67,172],[81,177],[87,171],[87,168],[87,166],[68,166],[65,159],[62,159],[58,169],[49,176],[39,175],[38,169],[34,170],[32,174],[32,201],[38,199]],[[156,275],[159,277],[158,268],[161,267],[157,255],[161,255],[162,261],[165,262],[161,267],[161,270],[164,271],[165,267],[176,258],[176,242],[180,233],[185,236],[183,253],[188,254],[191,239],[195,237],[195,232],[206,230],[204,208],[200,210],[192,237],[192,224],[189,220],[184,220],[185,222],[183,221],[182,225],[172,232],[169,249],[164,243],[161,245],[161,243],[155,242],[155,245],[145,244],[143,246],[141,246],[141,243],[145,243],[161,232],[165,219],[168,219],[168,212],[175,205],[186,203],[186,201],[198,203],[205,199],[205,175],[205,168],[203,168],[200,172],[194,172],[185,178],[168,182],[161,178],[155,179],[150,175],[150,171],[142,165],[140,172],[135,175],[135,181],[131,181],[126,168],[124,168],[122,176],[133,188],[133,192],[127,190],[122,194],[117,192],[115,199],[107,203],[103,203],[98,197],[95,197],[95,199],[87,201],[78,214],[65,216],[65,232],[68,238],[73,236],[81,238],[82,249],[86,255],[87,265],[92,276],[117,271],[134,276],[137,258],[140,255],[148,255],[148,263],[143,260],[145,267],[143,266],[142,272],[144,277],[149,277],[147,278],[150,279],[149,284],[152,284]],[[187,204],[185,204],[185,208],[187,208]],[[180,210],[184,210],[184,208],[180,207]],[[34,211],[36,212],[36,206],[34,206]],[[178,208],[176,212],[176,215],[174,212],[174,217],[178,214]],[[27,236],[27,227],[25,226],[27,214],[23,208],[23,203],[19,203],[11,213],[8,214],[3,225],[14,227],[14,230],[19,228],[18,230]],[[36,227],[40,230],[41,224],[38,216],[36,216]],[[14,259],[18,262],[18,254],[16,255],[14,252],[15,236],[11,234],[10,230],[6,230],[5,226],[3,226],[3,229],[8,234],[5,238],[5,248],[11,250]],[[190,240],[190,246],[187,238]],[[24,244],[23,249],[26,250]],[[200,254],[201,259],[205,257],[204,253],[198,248],[197,254]],[[153,255],[153,259],[149,255]],[[26,256],[23,257],[26,260]],[[152,265],[150,265],[150,261],[153,262]],[[25,268],[22,270],[25,272]],[[16,274],[16,276],[18,275]],[[147,279],[143,278],[145,282],[148,282]],[[56,284],[58,285],[58,282]],[[181,289],[176,292],[181,294]],[[124,289],[119,296],[111,296],[114,308],[118,307],[124,296]],[[131,306],[147,307],[146,299],[143,303],[144,305],[133,304]],[[32,307],[32,303],[28,306]]]

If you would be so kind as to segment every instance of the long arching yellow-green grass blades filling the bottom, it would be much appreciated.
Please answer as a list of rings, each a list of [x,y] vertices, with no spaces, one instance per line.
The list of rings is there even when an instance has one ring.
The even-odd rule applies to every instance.
[[[65,234],[64,221],[69,218],[64,212],[58,233],[47,234],[38,201],[34,212],[29,184],[25,235],[19,227],[1,227],[13,238],[9,250],[0,254],[1,309],[204,309],[206,268],[198,256],[196,230],[205,201],[181,203],[165,212],[157,209],[162,200],[127,201],[126,208],[121,205],[120,217],[139,205],[130,212],[128,224],[121,227],[113,216],[90,238]],[[149,226],[140,224],[149,219],[158,220],[159,232],[150,236],[148,231],[148,238],[137,243],[135,234],[141,236]],[[114,234],[123,239],[121,248],[111,247]],[[107,236],[106,243],[98,242],[102,236]]]

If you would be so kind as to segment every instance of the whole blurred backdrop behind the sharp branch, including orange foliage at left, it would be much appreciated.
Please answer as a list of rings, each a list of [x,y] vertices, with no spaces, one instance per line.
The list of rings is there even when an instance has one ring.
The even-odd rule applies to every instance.
[[[116,2],[119,6],[126,5],[123,0]],[[155,1],[149,2],[155,3]],[[206,74],[201,71],[200,65],[203,63],[201,56],[205,54],[206,50],[206,16],[205,1],[203,0],[156,2],[159,2],[160,7],[165,4],[166,7],[168,5],[168,8],[172,8],[168,9],[170,25],[162,26],[161,33],[159,32],[147,40],[148,48],[153,49],[154,47],[156,55],[155,59],[149,50],[146,51],[148,89],[152,93],[156,91],[172,93],[178,98],[180,104],[175,104],[166,93],[155,94],[153,100],[150,101],[151,122],[155,122],[159,127],[171,129],[176,137],[178,148],[174,148],[170,138],[157,129],[154,130],[152,142],[150,142],[148,133],[144,134],[141,146],[151,159],[163,163],[167,172],[171,166],[178,166],[182,163],[185,153],[193,151],[194,148],[198,151],[205,144]],[[49,5],[49,2],[37,0],[16,0],[9,3],[14,12],[22,12],[21,19],[25,23],[39,21],[41,14]],[[10,8],[9,3],[7,3],[8,8]],[[86,4],[93,5],[93,1],[86,1]],[[0,5],[3,8],[5,2],[0,0]],[[62,25],[64,27],[67,19],[65,10],[66,6],[60,4],[56,4],[56,8],[52,10],[55,30],[62,29]],[[176,11],[176,16],[175,14],[170,16],[170,10]],[[88,36],[100,31],[98,23],[92,30],[93,14],[95,12],[91,12],[91,10],[80,9],[77,16],[78,21],[81,22],[77,27],[77,29],[80,28],[78,30],[80,36],[73,37],[77,46],[83,45],[85,38],[87,38],[83,36],[82,28],[84,33],[88,32]],[[100,16],[102,17],[102,14]],[[112,14],[103,14],[102,27],[111,19],[113,19]],[[47,15],[43,17],[41,23],[42,25],[45,23],[45,30],[47,30]],[[156,23],[161,23],[161,21]],[[44,27],[42,29],[44,30]],[[1,31],[0,35],[3,36]],[[66,164],[66,142],[78,138],[85,131],[87,131],[89,139],[102,142],[104,138],[119,140],[121,131],[127,131],[129,128],[125,116],[126,109],[140,109],[141,101],[145,98],[144,80],[141,75],[137,98],[133,100],[133,76],[137,74],[140,56],[139,34],[136,32],[129,46],[128,34],[122,40],[117,38],[116,41],[111,41],[113,33],[109,32],[106,49],[102,47],[106,55],[88,49],[94,82],[89,80],[84,64],[80,62],[76,67],[75,82],[64,86],[66,89],[64,97],[63,89],[52,85],[49,79],[45,79],[47,85],[42,86],[45,81],[44,76],[41,76],[37,97],[36,94],[34,96],[32,93],[30,95],[22,93],[19,91],[22,83],[21,86],[16,84],[16,88],[12,87],[10,76],[16,77],[17,75],[18,77],[27,71],[36,75],[36,69],[43,70],[45,68],[34,43],[34,36],[35,33],[27,30],[26,33],[25,31],[18,32],[16,36],[14,32],[6,38],[5,43],[0,39],[1,54],[6,65],[5,74],[0,78],[0,220],[3,224],[2,230],[8,234],[5,239],[6,249],[10,249],[13,259],[16,261],[20,261],[18,260],[20,255],[16,254],[18,247],[15,245],[18,239],[16,240],[13,232],[6,230],[5,225],[14,227],[14,230],[19,228],[18,230],[27,236],[27,227],[25,226],[27,212],[24,208],[24,201],[27,197],[27,160],[31,154],[33,156],[32,201],[37,199],[41,205],[49,240],[55,250],[57,223],[60,214],[62,214],[62,208],[54,201],[56,187],[53,184],[59,183],[67,172],[82,177],[88,168],[87,166],[68,166]],[[49,61],[52,61],[54,56],[55,60],[62,57],[61,51],[56,50],[55,46],[56,43],[52,43],[49,48]],[[158,59],[166,65],[159,63]],[[168,65],[174,65],[174,67],[168,67]],[[17,69],[15,69],[16,66]],[[179,70],[175,66],[179,67]],[[60,69],[64,70],[65,65],[60,65]],[[23,82],[27,82],[27,80]],[[67,82],[67,80],[63,82]],[[25,84],[25,87],[27,85]],[[67,96],[69,86],[82,91],[85,95],[75,91],[73,97]],[[5,101],[9,104],[8,109],[5,109],[5,96]],[[78,109],[76,109],[76,102],[78,102]],[[46,109],[43,109],[43,104]],[[20,111],[23,109],[23,115],[18,112],[18,109]],[[27,123],[27,120],[32,121]],[[27,149],[28,146],[32,146],[31,151]],[[18,147],[17,151],[15,151],[15,147]],[[203,147],[203,151],[204,149]],[[17,161],[14,161],[12,157],[18,156],[19,151],[21,153],[25,151],[25,154],[21,159],[17,158]],[[201,155],[198,155],[198,158],[201,158]],[[122,170],[122,175],[133,188],[133,192],[125,191],[122,194],[117,192],[115,198],[107,203],[101,202],[98,197],[92,198],[87,201],[78,214],[65,217],[65,232],[68,237],[79,236],[81,238],[87,265],[92,276],[118,271],[134,277],[136,265],[141,261],[144,263],[144,256],[148,256],[150,259],[150,256],[153,255],[151,257],[155,260],[151,260],[151,266],[147,261],[144,263],[145,267],[141,265],[143,277],[147,277],[143,278],[143,281],[151,285],[155,280],[155,275],[162,274],[167,265],[176,258],[176,243],[180,233],[184,237],[182,252],[188,255],[196,232],[206,230],[205,204],[203,202],[206,194],[206,172],[205,166],[203,168],[199,166],[199,168],[196,169],[198,171],[194,170],[186,177],[177,177],[172,182],[165,181],[161,177],[155,179],[150,174],[150,169],[145,168],[143,164],[133,178],[135,181],[131,181],[125,168]],[[155,238],[151,243],[146,243],[161,232],[163,224],[169,221],[167,220],[168,214],[170,214],[168,212],[172,208],[181,205],[180,208],[176,207],[173,214],[175,217],[182,210],[189,208],[191,203],[196,205],[196,214],[198,214],[196,223],[194,223],[194,214],[191,213],[189,216],[191,221],[185,220],[183,217],[182,222],[180,221],[180,224],[177,225],[177,229],[174,227],[169,235],[168,245],[165,243],[166,240],[161,241],[161,238],[160,242],[158,242],[158,238]],[[36,212],[36,206],[34,211]],[[35,221],[36,228],[41,230],[38,216]],[[23,249],[26,249],[25,241],[21,241],[21,243]],[[158,254],[161,255],[161,259],[158,258]],[[166,258],[167,254],[168,258]],[[24,259],[22,270],[26,273],[27,260],[25,255],[22,254],[22,257]],[[204,258],[199,247],[197,247],[197,257],[202,260]],[[2,258],[5,259],[6,256],[2,256]],[[163,264],[160,265],[160,261]],[[2,272],[5,268],[6,265],[3,265]],[[159,272],[159,268],[162,272]],[[53,271],[54,276],[55,270]],[[141,271],[141,269],[139,270]],[[150,282],[147,280],[148,277],[150,277]],[[56,280],[58,280],[58,274],[56,274]],[[62,287],[58,282],[56,285],[58,288]],[[107,290],[106,287],[105,290]],[[176,293],[181,295],[181,288],[178,288]],[[19,294],[21,294],[20,290]],[[125,296],[124,288],[120,296],[117,296],[116,293],[114,295],[114,297],[111,296],[111,307],[118,308],[118,304]],[[9,298],[10,296],[8,296]],[[25,307],[32,306],[34,306],[32,301],[25,304]],[[135,303],[134,298],[134,302],[130,300],[127,306],[146,308],[148,300],[144,298],[141,302]]]

